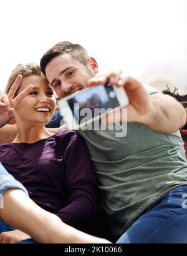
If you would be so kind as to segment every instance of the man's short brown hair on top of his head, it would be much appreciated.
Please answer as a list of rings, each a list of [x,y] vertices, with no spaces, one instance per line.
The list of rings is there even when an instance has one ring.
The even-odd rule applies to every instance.
[[[47,64],[55,57],[64,53],[70,54],[72,58],[77,59],[85,66],[87,65],[87,59],[89,58],[87,51],[82,46],[80,46],[80,44],[73,44],[70,41],[63,41],[55,44],[41,58],[41,70],[45,76]]]

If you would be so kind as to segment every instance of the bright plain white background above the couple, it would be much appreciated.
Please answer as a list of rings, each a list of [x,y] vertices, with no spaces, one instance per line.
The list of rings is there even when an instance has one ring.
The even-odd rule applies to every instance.
[[[0,1],[0,84],[59,41],[80,43],[100,71],[187,93],[187,0]]]

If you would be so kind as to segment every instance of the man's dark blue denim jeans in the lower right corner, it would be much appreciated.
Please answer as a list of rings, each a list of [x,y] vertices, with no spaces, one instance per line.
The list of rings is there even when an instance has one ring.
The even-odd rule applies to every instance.
[[[187,185],[153,203],[117,243],[187,243]]]

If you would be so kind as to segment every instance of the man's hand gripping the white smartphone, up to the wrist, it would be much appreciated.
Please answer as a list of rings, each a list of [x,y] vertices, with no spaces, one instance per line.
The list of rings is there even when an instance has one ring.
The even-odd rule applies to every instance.
[[[144,118],[151,111],[150,96],[146,92],[143,85],[135,78],[124,76],[122,71],[119,73],[110,73],[108,75],[91,78],[88,86],[95,86],[97,84],[104,84],[108,81],[112,86],[123,87],[128,96],[127,120],[123,116],[123,108],[115,111],[115,121],[137,121],[144,123]],[[125,118],[125,120],[123,120]],[[107,123],[113,122],[113,113],[107,113],[102,118]]]

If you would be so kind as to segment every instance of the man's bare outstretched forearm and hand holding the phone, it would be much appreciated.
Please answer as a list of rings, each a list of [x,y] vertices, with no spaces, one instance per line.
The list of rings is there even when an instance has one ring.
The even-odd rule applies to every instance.
[[[137,79],[130,76],[124,77],[121,73],[91,78],[88,85],[93,86],[106,81],[112,85],[123,87],[128,96],[129,103],[125,106],[127,120],[124,120],[123,108],[115,112],[118,120],[142,123],[151,130],[163,134],[173,133],[185,125],[185,108],[175,98],[161,94],[148,95],[144,86]],[[103,120],[108,123],[112,122],[113,113],[106,115]],[[116,118],[115,121],[117,121]]]

